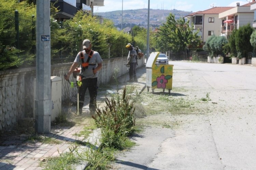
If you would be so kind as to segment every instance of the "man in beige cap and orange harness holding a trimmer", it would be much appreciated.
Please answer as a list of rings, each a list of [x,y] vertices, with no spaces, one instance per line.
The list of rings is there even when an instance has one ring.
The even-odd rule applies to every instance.
[[[69,80],[70,75],[79,64],[81,65],[80,75],[82,79],[82,85],[79,87],[79,113],[82,114],[84,96],[88,88],[90,95],[89,109],[90,113],[93,114],[97,106],[98,71],[102,68],[102,59],[98,52],[91,50],[91,41],[88,39],[83,41],[83,51],[80,51],[76,55],[74,63],[70,67],[68,74],[65,76],[66,80]]]

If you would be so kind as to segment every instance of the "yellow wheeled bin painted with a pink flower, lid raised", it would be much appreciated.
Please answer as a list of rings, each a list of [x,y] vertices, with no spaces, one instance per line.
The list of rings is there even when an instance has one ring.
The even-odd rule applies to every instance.
[[[170,91],[172,89],[172,72],[173,65],[169,64],[156,64],[156,59],[159,55],[159,52],[152,52],[148,57],[146,64],[146,86],[147,91],[151,87],[152,92],[154,93],[154,89],[168,89],[168,93],[170,95]]]

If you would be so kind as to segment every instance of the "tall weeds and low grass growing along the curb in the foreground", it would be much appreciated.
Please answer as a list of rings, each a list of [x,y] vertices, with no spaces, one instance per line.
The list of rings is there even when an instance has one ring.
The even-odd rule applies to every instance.
[[[126,87],[120,94],[105,98],[105,106],[96,109],[93,120],[84,126],[84,130],[74,134],[83,137],[83,141],[73,143],[69,152],[60,153],[58,157],[49,157],[40,166],[46,169],[74,169],[76,165],[87,163],[86,169],[109,169],[115,160],[115,152],[135,145],[129,139],[135,131],[135,107],[131,95],[131,87]],[[92,120],[92,119],[90,119]],[[86,141],[92,130],[100,128],[100,139],[93,145]]]

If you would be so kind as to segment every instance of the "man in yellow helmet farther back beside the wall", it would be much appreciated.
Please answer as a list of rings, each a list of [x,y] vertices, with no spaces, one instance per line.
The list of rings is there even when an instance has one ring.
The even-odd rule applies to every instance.
[[[129,43],[125,46],[129,50],[129,54],[127,57],[129,68],[129,80],[127,82],[138,82],[136,76],[136,66],[137,66],[137,52],[133,48],[133,46]]]

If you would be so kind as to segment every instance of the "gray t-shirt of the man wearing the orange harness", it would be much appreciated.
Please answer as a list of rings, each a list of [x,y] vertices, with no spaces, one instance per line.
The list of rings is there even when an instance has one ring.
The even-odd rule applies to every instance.
[[[84,54],[84,62],[87,61],[87,58],[89,56],[89,54],[86,54],[85,50],[83,50],[83,54]],[[98,77],[98,72],[94,75],[93,73],[93,68],[96,68],[98,66],[99,63],[102,63],[102,59],[100,57],[100,54],[97,51],[93,52],[93,56],[91,56],[90,60],[89,60],[89,66],[87,69],[85,69],[82,72],[82,62],[81,62],[81,58],[80,58],[80,52],[76,55],[74,63],[79,63],[81,65],[81,74],[84,77],[90,77],[90,78],[96,78]]]

